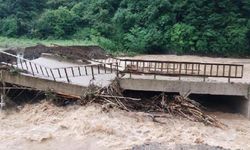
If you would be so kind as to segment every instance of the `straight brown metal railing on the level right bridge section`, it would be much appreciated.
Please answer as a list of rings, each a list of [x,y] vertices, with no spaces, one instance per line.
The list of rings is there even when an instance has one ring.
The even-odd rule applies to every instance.
[[[219,63],[200,63],[200,62],[175,62],[175,61],[151,61],[123,59],[125,70],[123,73],[131,74],[150,74],[176,76],[179,79],[182,76],[242,78],[244,66],[239,64],[219,64]]]

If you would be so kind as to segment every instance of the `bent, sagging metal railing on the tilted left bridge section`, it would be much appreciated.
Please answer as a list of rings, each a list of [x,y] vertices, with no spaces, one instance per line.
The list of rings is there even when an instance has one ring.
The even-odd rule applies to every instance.
[[[98,74],[108,74],[114,72],[116,72],[116,75],[118,76],[118,63],[99,63],[71,67],[50,68],[7,52],[2,51],[0,52],[0,54],[0,63],[2,65],[7,65],[16,69],[24,70],[27,74],[30,74],[32,76],[51,78],[54,81],[66,78],[67,82],[69,83],[70,77],[91,76],[92,79],[95,79],[95,76]]]

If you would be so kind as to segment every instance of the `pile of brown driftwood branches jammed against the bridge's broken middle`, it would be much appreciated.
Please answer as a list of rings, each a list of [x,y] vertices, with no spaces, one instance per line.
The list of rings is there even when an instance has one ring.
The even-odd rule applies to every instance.
[[[199,103],[184,96],[168,98],[163,93],[147,99],[125,97],[118,80],[114,80],[112,84],[104,88],[91,85],[82,97],[81,104],[92,102],[101,103],[104,110],[117,107],[126,111],[166,112],[191,121],[203,122],[206,125],[225,127],[217,119],[202,111]]]

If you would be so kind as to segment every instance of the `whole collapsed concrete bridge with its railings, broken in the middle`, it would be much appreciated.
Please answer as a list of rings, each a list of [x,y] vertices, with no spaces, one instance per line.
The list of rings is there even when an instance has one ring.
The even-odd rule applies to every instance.
[[[108,58],[88,65],[51,67],[6,52],[1,56],[1,66],[12,69],[1,69],[4,83],[81,97],[89,84],[106,86],[119,77],[124,90],[238,96],[241,112],[250,117],[250,84],[244,82],[242,64]]]

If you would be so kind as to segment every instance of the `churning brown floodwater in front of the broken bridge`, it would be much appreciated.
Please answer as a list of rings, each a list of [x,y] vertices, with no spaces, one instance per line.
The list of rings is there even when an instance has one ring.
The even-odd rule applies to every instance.
[[[147,143],[250,149],[249,120],[238,114],[213,115],[228,128],[208,127],[171,116],[160,119],[164,124],[159,124],[141,112],[103,112],[97,104],[57,107],[42,101],[0,113],[0,149],[117,150]]]

